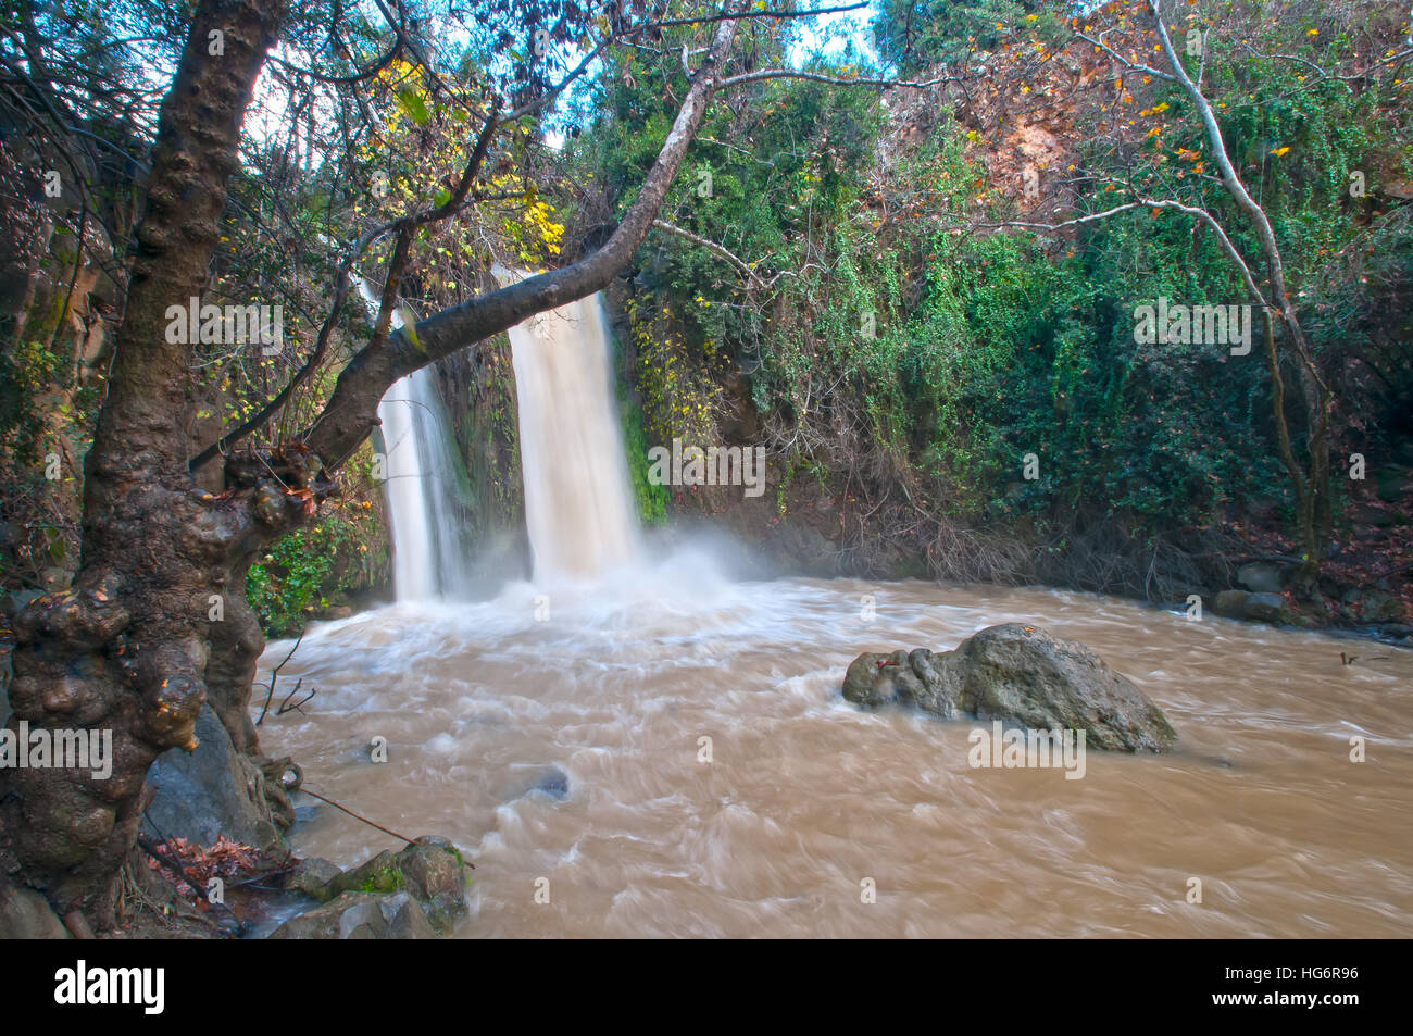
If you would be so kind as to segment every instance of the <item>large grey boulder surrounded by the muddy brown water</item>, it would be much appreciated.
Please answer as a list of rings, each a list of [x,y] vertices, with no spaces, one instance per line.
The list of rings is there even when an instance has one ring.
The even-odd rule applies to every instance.
[[[1177,741],[1163,711],[1088,647],[1015,622],[952,652],[861,654],[844,697],[866,708],[899,701],[942,719],[1084,731],[1088,746],[1112,752],[1167,752]]]

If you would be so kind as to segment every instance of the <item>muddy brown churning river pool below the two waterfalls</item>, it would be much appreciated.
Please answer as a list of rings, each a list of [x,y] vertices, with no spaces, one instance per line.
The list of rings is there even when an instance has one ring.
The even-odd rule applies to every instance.
[[[862,650],[947,649],[1010,620],[1089,644],[1181,750],[1089,752],[1081,780],[971,769],[974,724],[839,695]],[[1070,592],[732,582],[677,554],[315,625],[280,684],[297,677],[318,694],[266,721],[264,750],[387,827],[468,849],[461,937],[1375,937],[1413,922],[1413,653],[1395,647]],[[292,842],[345,866],[400,847],[328,807]]]

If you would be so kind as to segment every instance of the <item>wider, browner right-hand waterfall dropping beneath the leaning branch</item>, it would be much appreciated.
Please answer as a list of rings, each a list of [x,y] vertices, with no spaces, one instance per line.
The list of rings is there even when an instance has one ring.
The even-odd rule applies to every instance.
[[[598,295],[510,329],[536,579],[593,578],[637,554],[609,341]]]

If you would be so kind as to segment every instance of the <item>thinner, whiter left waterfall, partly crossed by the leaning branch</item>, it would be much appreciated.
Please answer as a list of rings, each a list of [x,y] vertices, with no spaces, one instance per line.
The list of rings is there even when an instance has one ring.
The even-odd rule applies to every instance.
[[[377,300],[363,280],[359,293],[376,315]],[[401,325],[394,311],[393,326]],[[463,531],[469,502],[451,418],[431,367],[396,382],[377,404],[377,417],[383,423],[397,599],[461,596],[471,585]]]

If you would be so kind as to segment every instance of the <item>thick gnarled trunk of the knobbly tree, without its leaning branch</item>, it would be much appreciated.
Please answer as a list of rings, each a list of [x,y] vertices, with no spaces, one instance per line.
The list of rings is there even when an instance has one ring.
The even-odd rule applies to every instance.
[[[225,493],[195,489],[181,420],[192,345],[167,336],[168,307],[202,294],[240,126],[284,6],[202,0],[195,14],[161,107],[127,308],[85,462],[82,564],[71,591],[16,619],[10,728],[23,719],[109,732],[112,773],[0,770],[0,862],[61,916],[78,909],[105,927],[150,799],[148,767],[170,748],[195,748],[209,676],[227,697],[213,701],[225,718],[232,685],[253,673],[260,644],[239,601],[244,570],[324,489],[301,451],[264,458],[259,478],[227,482]]]

